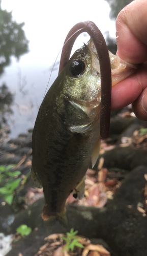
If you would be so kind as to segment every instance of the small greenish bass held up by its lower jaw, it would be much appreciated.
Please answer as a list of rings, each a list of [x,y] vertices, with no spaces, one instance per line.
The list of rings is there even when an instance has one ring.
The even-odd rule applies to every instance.
[[[109,52],[112,86],[136,68]],[[70,193],[84,196],[85,173],[100,151],[101,74],[90,39],[68,61],[46,93],[32,135],[31,177],[43,187],[44,221],[67,224]]]

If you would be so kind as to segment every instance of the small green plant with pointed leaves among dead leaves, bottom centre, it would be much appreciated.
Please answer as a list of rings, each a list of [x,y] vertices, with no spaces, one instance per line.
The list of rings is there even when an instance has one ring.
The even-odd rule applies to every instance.
[[[65,250],[70,251],[70,250],[74,250],[74,247],[81,247],[84,248],[84,246],[80,243],[78,243],[78,241],[80,240],[80,238],[77,238],[75,235],[78,233],[78,231],[74,231],[73,228],[71,228],[70,232],[66,233],[66,237],[62,237],[63,240],[66,241],[65,247],[63,249],[63,252]]]

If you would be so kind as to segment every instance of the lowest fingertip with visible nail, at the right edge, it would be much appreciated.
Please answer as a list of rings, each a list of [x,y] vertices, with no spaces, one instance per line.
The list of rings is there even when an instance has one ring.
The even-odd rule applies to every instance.
[[[132,103],[132,109],[139,119],[147,121],[147,88]]]

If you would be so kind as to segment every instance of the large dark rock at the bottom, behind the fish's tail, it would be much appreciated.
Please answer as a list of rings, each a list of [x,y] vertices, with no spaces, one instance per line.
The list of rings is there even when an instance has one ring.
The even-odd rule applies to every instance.
[[[147,217],[137,209],[137,204],[143,203],[144,200],[146,173],[147,168],[144,166],[135,168],[116,191],[114,199],[101,209],[67,205],[69,220],[67,228],[62,227],[58,222],[53,226],[43,222],[41,212],[44,200],[38,200],[27,210],[16,215],[9,230],[14,232],[23,223],[33,229],[38,227],[38,231],[33,231],[28,237],[16,243],[7,256],[14,256],[19,252],[23,256],[32,256],[38,251],[38,245],[44,244],[43,239],[47,235],[56,232],[65,233],[72,227],[82,236],[103,239],[115,252],[111,256],[146,255]]]

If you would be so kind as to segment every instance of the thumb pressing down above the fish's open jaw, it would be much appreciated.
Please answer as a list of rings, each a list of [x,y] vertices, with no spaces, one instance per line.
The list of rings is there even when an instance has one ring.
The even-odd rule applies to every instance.
[[[130,63],[147,60],[147,1],[136,0],[116,18],[117,55]]]

